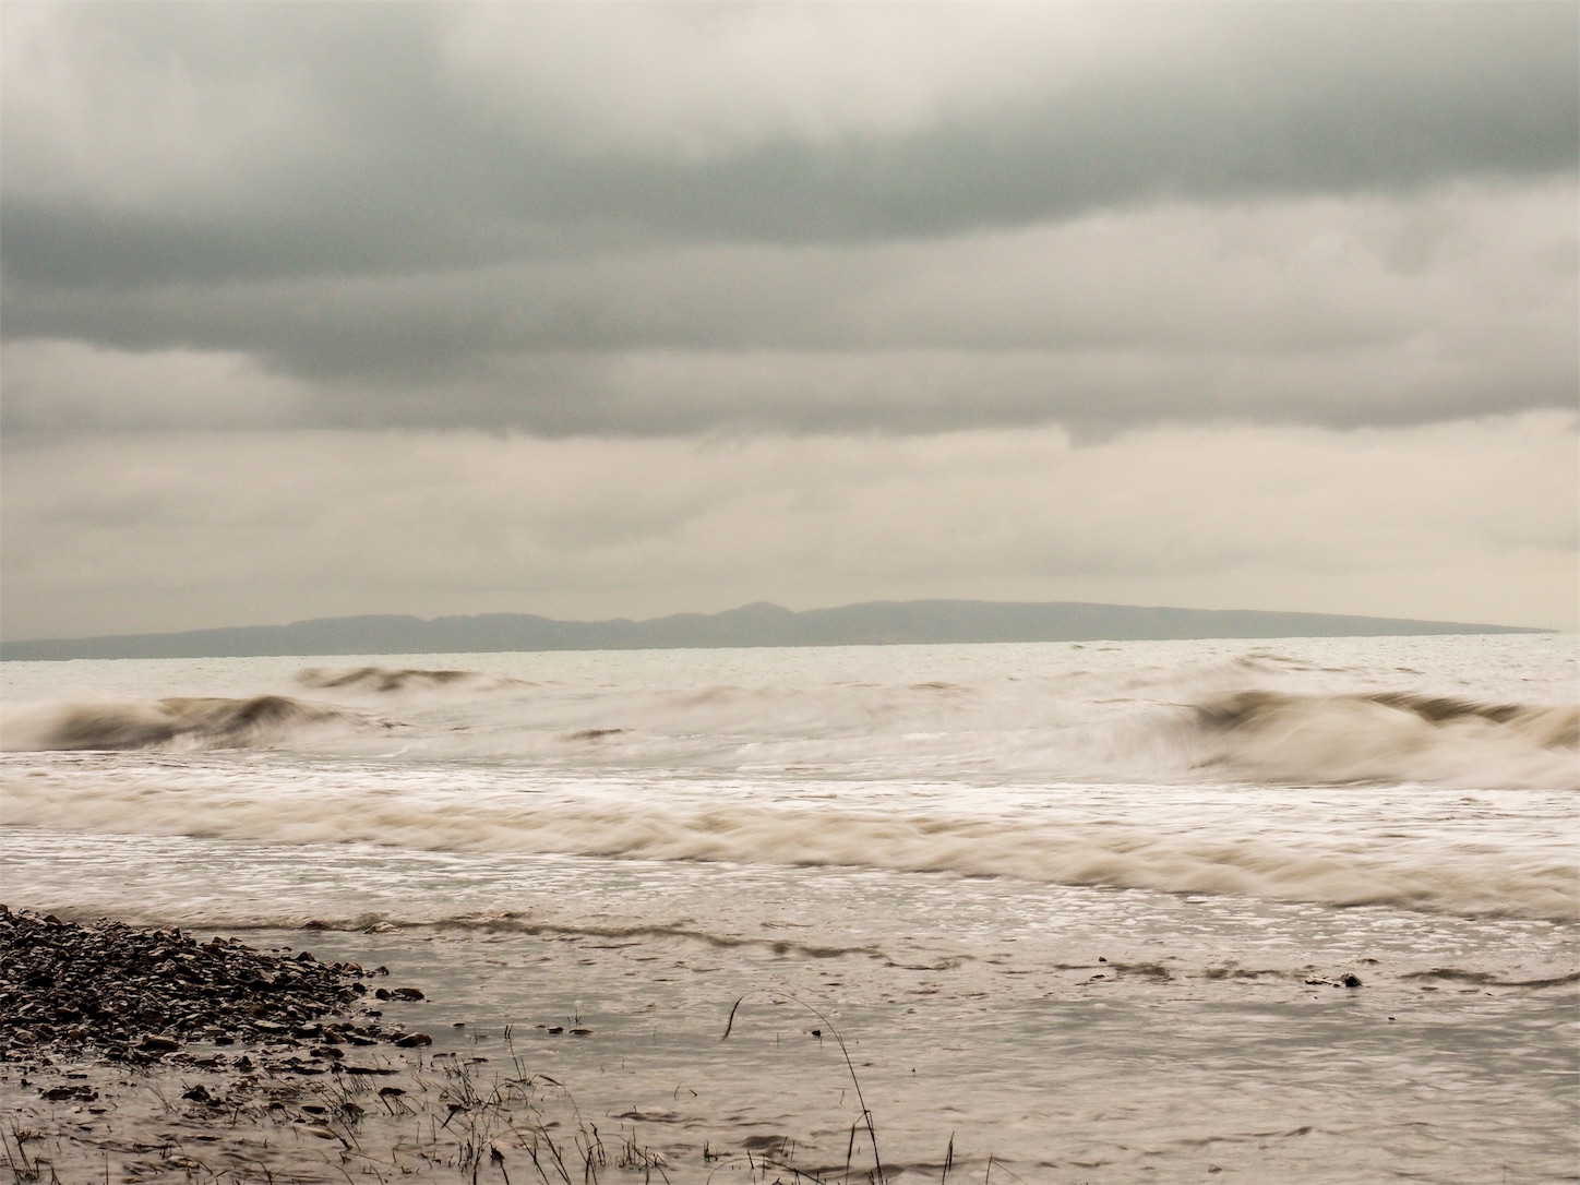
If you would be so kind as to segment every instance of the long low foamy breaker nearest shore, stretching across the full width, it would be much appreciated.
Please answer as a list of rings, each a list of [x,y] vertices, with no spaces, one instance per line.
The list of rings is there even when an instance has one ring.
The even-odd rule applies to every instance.
[[[52,784],[54,782],[54,784]],[[504,785],[171,787],[164,777],[16,779],[8,823],[262,844],[373,844],[419,852],[864,867],[1106,885],[1326,905],[1580,921],[1580,871],[1566,842],[1490,834],[1351,837],[1322,828],[1204,826],[1040,811],[959,815],[818,803],[681,804],[555,799]]]

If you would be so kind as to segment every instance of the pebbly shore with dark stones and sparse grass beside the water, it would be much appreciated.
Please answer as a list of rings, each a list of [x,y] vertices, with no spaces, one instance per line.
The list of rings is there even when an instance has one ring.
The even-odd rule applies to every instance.
[[[518,1046],[510,1024],[423,1019],[434,1041],[431,1002],[390,983],[284,942],[0,905],[0,1182],[834,1179],[782,1134],[720,1147],[667,1106],[583,1109],[540,1066],[588,1027],[537,1024]]]

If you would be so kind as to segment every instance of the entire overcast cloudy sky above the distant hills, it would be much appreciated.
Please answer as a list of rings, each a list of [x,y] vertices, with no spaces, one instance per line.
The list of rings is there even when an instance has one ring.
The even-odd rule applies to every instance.
[[[1580,627],[1572,3],[0,6],[0,635]]]

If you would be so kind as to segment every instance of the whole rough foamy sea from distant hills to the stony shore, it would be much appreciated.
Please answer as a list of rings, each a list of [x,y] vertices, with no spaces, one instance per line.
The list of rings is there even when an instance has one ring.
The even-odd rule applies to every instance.
[[[1580,1180],[1574,635],[0,689],[0,901],[386,964],[648,1180]]]

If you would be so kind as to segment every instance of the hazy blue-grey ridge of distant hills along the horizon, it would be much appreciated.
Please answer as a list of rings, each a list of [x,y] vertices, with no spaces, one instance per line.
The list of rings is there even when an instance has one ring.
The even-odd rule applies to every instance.
[[[182,634],[3,641],[13,659],[221,659],[319,654],[477,654],[548,649],[871,646],[950,641],[1142,641],[1168,638],[1547,634],[1522,626],[1356,618],[1264,610],[1146,608],[1078,600],[872,600],[796,613],[757,602],[651,621],[555,621],[529,613],[466,618],[354,616]]]

